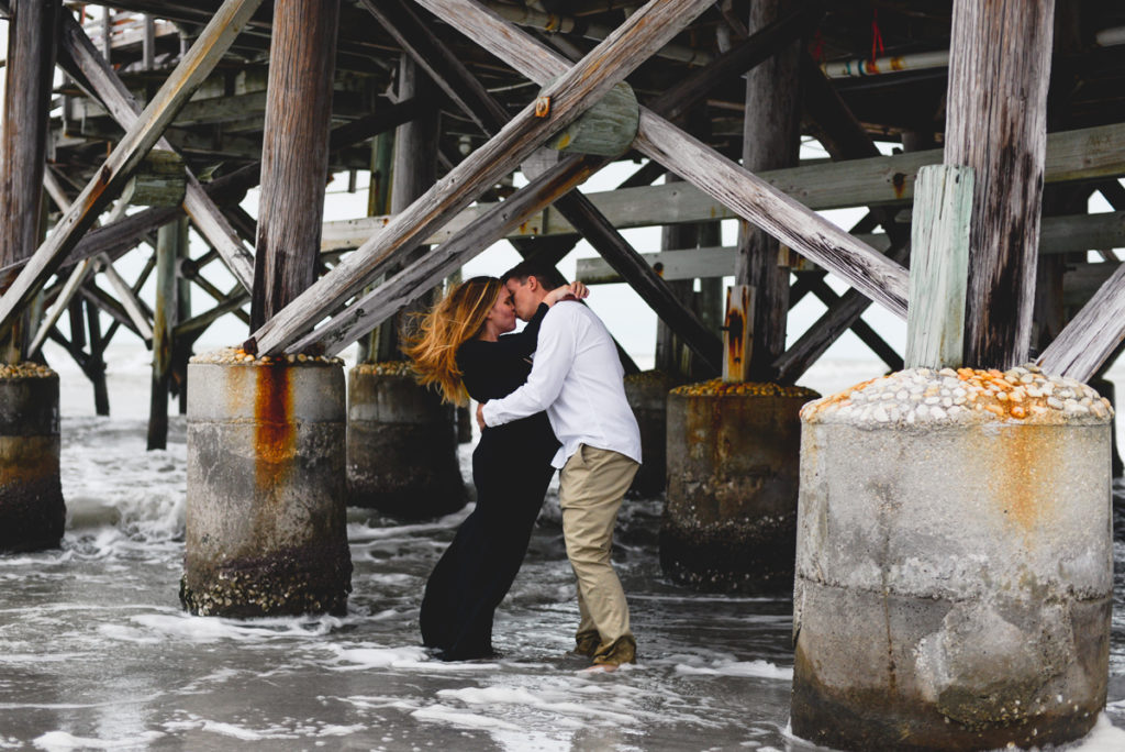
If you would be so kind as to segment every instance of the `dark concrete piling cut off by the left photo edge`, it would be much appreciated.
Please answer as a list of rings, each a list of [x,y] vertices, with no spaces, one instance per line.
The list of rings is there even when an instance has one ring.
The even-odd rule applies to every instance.
[[[58,375],[34,362],[0,367],[0,552],[58,545]]]

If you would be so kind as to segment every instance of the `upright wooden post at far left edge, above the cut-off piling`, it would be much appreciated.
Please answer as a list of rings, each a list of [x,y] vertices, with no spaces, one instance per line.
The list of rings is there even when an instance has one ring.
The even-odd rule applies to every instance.
[[[58,0],[20,0],[8,24],[3,123],[0,132],[0,267],[29,258],[39,244],[39,208],[55,65]],[[0,293],[8,296],[7,285]],[[28,301],[29,302],[29,301]],[[0,340],[0,361],[27,355],[36,322],[20,316]]]

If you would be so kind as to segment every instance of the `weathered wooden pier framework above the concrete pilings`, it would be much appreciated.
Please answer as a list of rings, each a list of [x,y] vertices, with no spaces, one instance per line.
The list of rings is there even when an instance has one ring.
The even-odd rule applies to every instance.
[[[735,381],[792,384],[848,329],[897,368],[901,355],[860,316],[871,302],[906,315],[908,209],[919,170],[944,162],[978,169],[973,216],[989,217],[973,223],[966,362],[1037,356],[1089,378],[1125,321],[1113,250],[1125,245],[1125,11],[1061,5],[1026,60],[1005,50],[984,69],[958,64],[957,7],[669,1],[654,12],[676,28],[654,44],[629,25],[637,3],[616,0],[6,0],[8,360],[58,342],[104,412],[106,346],[130,331],[154,351],[161,446],[166,399],[155,392],[182,392],[194,342],[223,315],[246,321],[263,355],[335,353],[493,242],[554,262],[580,236],[601,260],[579,276],[639,293],[660,320],[658,365],[677,376],[722,370],[721,277],[754,289]],[[1018,15],[1033,8],[1051,10],[1037,1]],[[981,15],[962,33],[993,23]],[[618,56],[586,59],[608,39]],[[569,141],[557,134],[590,122],[622,80],[636,129],[613,153],[552,151],[513,190],[512,173],[552,137]],[[421,122],[433,163],[386,174],[378,155],[394,129]],[[800,163],[802,136],[831,160]],[[638,168],[619,189],[576,189],[623,160]],[[372,173],[376,216],[323,221],[324,183],[344,171],[352,185]],[[990,200],[989,171],[1029,186],[1023,203]],[[392,185],[416,200],[380,214],[390,204],[376,207],[374,194]],[[238,206],[255,186],[256,218]],[[1094,193],[1116,211],[1089,214]],[[817,214],[840,207],[867,213],[848,231]],[[206,252],[188,254],[179,217]],[[741,223],[732,247],[719,240],[722,218]],[[651,225],[666,229],[659,252],[620,234]],[[132,280],[114,268],[127,253],[145,259]],[[216,288],[210,263],[237,285]],[[141,299],[153,272],[155,299]],[[837,295],[826,272],[852,289]],[[214,305],[192,316],[192,293]],[[828,310],[786,349],[785,313],[809,294]]]

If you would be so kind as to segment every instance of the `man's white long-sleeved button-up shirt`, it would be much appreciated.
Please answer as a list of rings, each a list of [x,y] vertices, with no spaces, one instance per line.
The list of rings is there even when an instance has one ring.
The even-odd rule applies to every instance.
[[[605,324],[573,301],[555,304],[539,328],[528,383],[484,406],[486,426],[502,426],[547,411],[562,447],[561,468],[585,444],[640,462],[640,429],[626,400],[624,370]]]

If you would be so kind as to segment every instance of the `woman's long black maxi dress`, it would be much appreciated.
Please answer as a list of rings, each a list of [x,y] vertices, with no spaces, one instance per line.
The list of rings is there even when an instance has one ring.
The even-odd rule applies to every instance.
[[[522,332],[495,342],[469,340],[457,351],[465,387],[478,402],[507,396],[528,381],[540,305]],[[528,552],[558,450],[547,413],[486,428],[472,453],[476,509],[430,574],[422,599],[422,642],[448,661],[488,657],[493,614]]]

